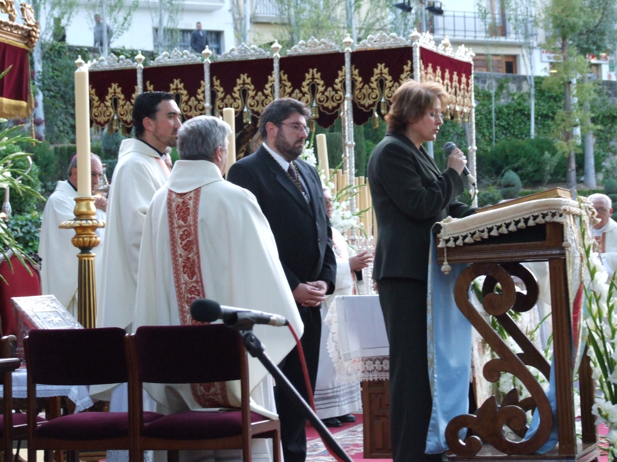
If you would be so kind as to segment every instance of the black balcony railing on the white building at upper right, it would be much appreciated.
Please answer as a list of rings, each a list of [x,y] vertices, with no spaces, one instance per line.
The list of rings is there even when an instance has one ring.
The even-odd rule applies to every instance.
[[[435,36],[448,35],[454,39],[484,40],[493,38],[501,41],[521,41],[520,31],[513,28],[510,17],[489,15],[486,20],[478,13],[465,11],[445,11],[443,15],[429,15],[427,27]],[[529,30],[534,33],[530,25]]]

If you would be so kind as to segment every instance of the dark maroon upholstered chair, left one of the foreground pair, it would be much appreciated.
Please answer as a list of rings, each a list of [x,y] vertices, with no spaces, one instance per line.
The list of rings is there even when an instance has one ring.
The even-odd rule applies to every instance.
[[[67,462],[77,452],[130,450],[133,428],[128,412],[82,412],[51,419],[36,426],[36,384],[96,385],[128,381],[125,331],[101,329],[31,330],[24,339],[28,368],[28,462],[36,462],[36,450],[66,450]],[[129,391],[130,393],[131,391]],[[161,414],[144,412],[151,422]]]

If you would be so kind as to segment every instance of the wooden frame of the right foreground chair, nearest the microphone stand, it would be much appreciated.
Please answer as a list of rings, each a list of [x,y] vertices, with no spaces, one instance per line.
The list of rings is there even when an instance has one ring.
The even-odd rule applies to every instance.
[[[178,462],[179,450],[202,449],[242,449],[242,461],[251,462],[251,439],[272,439],[273,462],[280,462],[281,423],[279,419],[263,418],[263,421],[251,422],[251,408],[249,405],[251,393],[249,391],[249,362],[242,339],[238,336],[238,347],[241,351],[240,384],[241,384],[241,412],[242,433],[231,436],[207,440],[176,440],[159,439],[141,436],[143,424],[143,383],[139,381],[137,348],[135,334],[126,335],[126,364],[129,368],[129,424],[135,425],[132,434],[135,462],[143,462],[143,452],[147,450],[167,450],[167,461]],[[132,403],[131,403],[132,397]]]

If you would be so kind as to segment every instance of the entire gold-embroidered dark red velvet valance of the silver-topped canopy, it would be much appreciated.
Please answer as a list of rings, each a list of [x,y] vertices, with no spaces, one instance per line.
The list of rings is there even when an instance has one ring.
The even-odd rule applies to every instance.
[[[445,86],[450,101],[446,118],[466,121],[471,110],[471,62],[420,47],[420,79]],[[352,52],[354,123],[387,113],[392,95],[413,76],[413,47],[367,49]],[[184,120],[205,113],[204,66],[201,63],[148,67],[144,91],[176,95]],[[0,82],[1,83],[1,82]],[[105,126],[118,118],[132,126],[136,97],[136,69],[90,73],[91,115]],[[210,65],[210,100],[213,115],[223,108],[236,110],[236,134],[250,139],[263,109],[273,99],[273,59],[213,62]],[[315,121],[328,128],[339,116],[345,97],[345,54],[292,55],[280,59],[281,96],[305,102]],[[244,121],[247,120],[248,123]],[[251,129],[247,129],[251,128]]]

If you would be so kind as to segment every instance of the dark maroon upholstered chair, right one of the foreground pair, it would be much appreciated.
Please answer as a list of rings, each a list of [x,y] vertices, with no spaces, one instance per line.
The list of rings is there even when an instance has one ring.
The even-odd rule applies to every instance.
[[[142,326],[126,336],[129,354],[129,399],[135,400],[135,455],[144,450],[167,450],[168,462],[178,450],[242,449],[251,461],[251,439],[273,440],[274,462],[280,461],[280,421],[249,408],[249,364],[238,333],[222,324]],[[138,376],[135,376],[137,371]],[[184,411],[152,423],[141,419],[142,384],[241,381],[241,409],[226,412]]]

